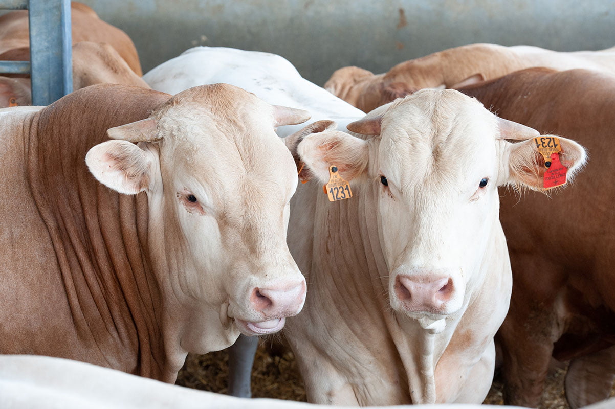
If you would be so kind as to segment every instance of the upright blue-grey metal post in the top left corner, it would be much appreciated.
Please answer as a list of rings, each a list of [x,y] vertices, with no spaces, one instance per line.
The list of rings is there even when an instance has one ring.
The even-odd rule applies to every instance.
[[[32,103],[49,105],[73,91],[70,0],[30,0]]]

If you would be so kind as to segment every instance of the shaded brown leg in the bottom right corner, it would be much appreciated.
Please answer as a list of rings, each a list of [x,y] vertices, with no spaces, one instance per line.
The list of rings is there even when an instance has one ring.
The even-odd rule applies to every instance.
[[[615,346],[571,360],[565,378],[566,400],[572,409],[609,397],[615,381]]]

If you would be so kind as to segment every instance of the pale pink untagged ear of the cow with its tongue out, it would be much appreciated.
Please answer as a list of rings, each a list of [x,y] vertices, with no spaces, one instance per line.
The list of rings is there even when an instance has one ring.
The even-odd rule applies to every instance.
[[[125,195],[148,189],[154,167],[151,150],[128,141],[106,141],[87,152],[85,163],[99,182]]]

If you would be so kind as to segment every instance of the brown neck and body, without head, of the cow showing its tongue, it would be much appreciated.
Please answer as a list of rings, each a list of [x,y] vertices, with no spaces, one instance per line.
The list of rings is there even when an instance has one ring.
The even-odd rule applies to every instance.
[[[167,99],[152,90],[97,85],[28,115],[13,130],[18,138],[6,155],[15,165],[19,152],[25,155],[16,173],[25,185],[11,195],[20,184],[0,184],[7,198],[2,226],[13,232],[0,236],[1,247],[12,249],[0,254],[0,353],[68,357],[172,380],[146,242],[145,193],[109,190],[84,162],[108,128],[145,119]],[[6,133],[3,141],[14,138]]]

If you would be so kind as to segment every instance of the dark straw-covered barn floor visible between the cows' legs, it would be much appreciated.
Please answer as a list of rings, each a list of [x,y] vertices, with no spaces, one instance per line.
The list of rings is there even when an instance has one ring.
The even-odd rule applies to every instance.
[[[226,393],[228,354],[226,351],[207,355],[188,355],[177,384],[205,391]],[[547,378],[546,392],[539,409],[568,409],[564,399],[563,381],[566,371],[556,368]],[[252,370],[253,397],[306,400],[295,357],[281,346],[261,341]],[[484,403],[502,405],[502,383],[496,380]]]

